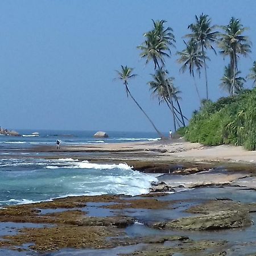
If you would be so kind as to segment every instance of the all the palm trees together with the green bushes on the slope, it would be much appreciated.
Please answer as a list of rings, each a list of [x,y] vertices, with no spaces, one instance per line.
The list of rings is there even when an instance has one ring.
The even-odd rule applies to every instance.
[[[175,131],[192,142],[200,142],[207,145],[235,144],[243,145],[248,150],[256,149],[256,89],[245,90],[243,85],[245,78],[241,77],[238,63],[241,57],[247,57],[251,52],[251,42],[244,35],[247,27],[244,27],[240,19],[230,18],[226,26],[211,25],[212,19],[206,14],[195,16],[195,23],[188,25],[189,34],[185,35],[185,48],[177,51],[177,63],[180,64],[180,72],[188,71],[193,78],[196,93],[200,102],[199,112],[194,112],[186,127],[180,104],[180,90],[174,85],[175,77],[169,76],[170,67],[166,60],[171,57],[171,49],[175,47],[175,35],[171,27],[166,26],[166,20],[152,20],[151,30],[143,34],[144,41],[137,48],[140,56],[146,60],[146,64],[154,64],[154,74],[151,81],[147,82],[152,95],[158,98],[159,104],[166,104],[170,109]],[[216,28],[220,28],[220,32]],[[220,55],[228,57],[228,64],[224,65],[224,75],[220,75],[219,87],[229,93],[229,97],[220,98],[213,103],[209,100],[207,63],[210,61],[207,52],[214,47],[220,49]],[[256,61],[250,69],[247,79],[253,80],[256,85]],[[124,68],[125,67],[125,68]],[[196,82],[196,73],[199,75],[204,68],[206,100],[201,97]],[[169,70],[169,71],[168,71]],[[133,68],[122,66],[118,72],[118,78],[125,84],[127,96],[131,96],[127,79]],[[126,73],[128,72],[128,73]],[[131,75],[131,76],[130,76]],[[217,87],[217,85],[215,85]],[[191,88],[191,85],[188,85]],[[188,89],[188,92],[190,90]],[[144,113],[138,102],[134,102]],[[148,118],[148,115],[144,113]],[[149,119],[149,118],[148,118]],[[150,119],[149,119],[150,120]],[[151,124],[156,129],[154,123]],[[162,137],[162,136],[161,136]]]

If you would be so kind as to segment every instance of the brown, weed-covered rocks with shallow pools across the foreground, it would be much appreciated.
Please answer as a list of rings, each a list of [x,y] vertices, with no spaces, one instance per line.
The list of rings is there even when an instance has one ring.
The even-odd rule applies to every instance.
[[[177,201],[166,199],[168,194],[164,193],[150,193],[135,197],[80,196],[55,199],[51,202],[9,206],[0,210],[1,225],[5,222],[30,222],[44,224],[44,226],[43,228],[42,226],[23,228],[14,235],[2,236],[0,247],[31,253],[32,251],[58,251],[67,247],[110,249],[117,246],[143,245],[140,250],[125,255],[171,255],[171,253],[209,255],[204,254],[206,251],[212,251],[211,255],[226,255],[227,241],[194,241],[193,233],[191,236],[164,233],[158,236],[127,236],[127,227],[143,225],[155,230],[209,229],[216,231],[241,228],[251,225],[249,212],[256,210],[256,204],[209,200],[196,207],[188,207],[187,212],[192,213],[190,217],[172,220],[172,210],[175,209]],[[97,210],[108,209],[113,216],[93,217],[89,209],[92,207]],[[165,209],[170,212],[170,220],[152,222],[147,221],[143,216],[140,219],[136,216],[132,217],[131,213],[138,208],[151,211]],[[129,211],[123,212],[125,209]],[[196,217],[193,216],[195,213]],[[174,241],[175,246],[172,245]],[[164,245],[166,242],[169,242],[170,246]],[[23,245],[27,243],[31,245],[25,249]]]

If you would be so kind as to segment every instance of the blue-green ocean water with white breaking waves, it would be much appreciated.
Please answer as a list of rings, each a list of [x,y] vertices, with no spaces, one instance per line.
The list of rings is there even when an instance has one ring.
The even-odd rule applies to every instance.
[[[109,138],[98,139],[92,136],[95,131],[17,131],[24,136],[0,136],[0,207],[65,196],[134,196],[147,193],[151,182],[157,180],[155,176],[131,170],[125,163],[79,162],[65,153],[59,159],[44,159],[41,153],[31,150],[35,146],[55,145],[56,140],[61,145],[158,141],[155,133],[109,131]],[[34,132],[40,136],[31,137]]]

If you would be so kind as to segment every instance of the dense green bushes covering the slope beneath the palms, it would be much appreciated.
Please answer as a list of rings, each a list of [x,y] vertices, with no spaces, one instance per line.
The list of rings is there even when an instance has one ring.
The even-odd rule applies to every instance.
[[[234,144],[256,150],[256,89],[237,96],[203,102],[188,127],[185,139],[205,145]]]

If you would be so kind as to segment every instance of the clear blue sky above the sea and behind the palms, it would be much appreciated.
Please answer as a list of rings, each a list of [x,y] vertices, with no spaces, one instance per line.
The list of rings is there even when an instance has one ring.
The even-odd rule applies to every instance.
[[[200,103],[189,73],[179,72],[176,51],[184,49],[183,36],[195,15],[208,14],[218,25],[232,16],[241,19],[253,42],[250,57],[238,63],[242,76],[256,60],[253,0],[1,0],[0,10],[0,125],[7,129],[154,131],[122,82],[114,80],[121,65],[138,74],[129,82],[131,93],[158,129],[173,129],[170,110],[147,85],[154,65],[146,65],[137,49],[151,19],[167,20],[174,30],[176,49],[166,67],[188,118]],[[209,97],[215,101],[226,96],[218,85],[228,59],[208,55]],[[205,97],[203,71],[197,83]],[[245,87],[251,86],[247,81]]]

